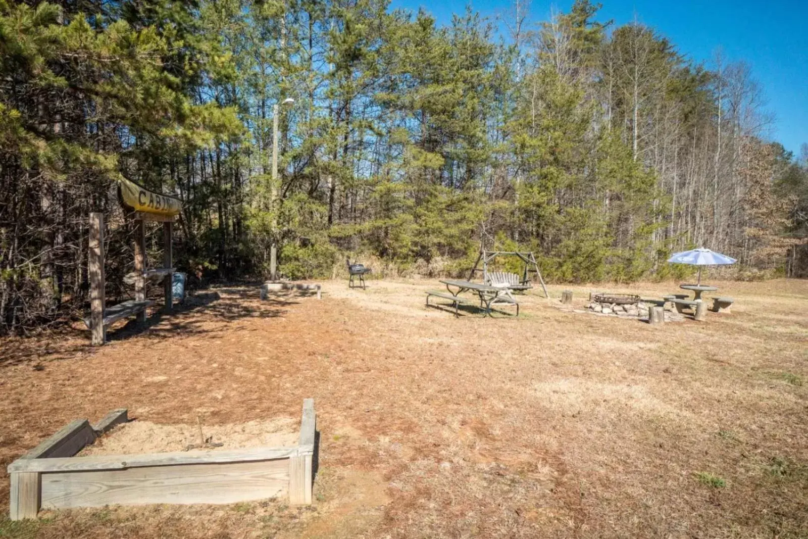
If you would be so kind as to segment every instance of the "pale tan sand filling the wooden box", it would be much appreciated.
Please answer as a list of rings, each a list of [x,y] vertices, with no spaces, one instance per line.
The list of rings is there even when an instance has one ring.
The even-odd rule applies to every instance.
[[[124,455],[132,453],[169,453],[192,449],[226,450],[255,447],[293,447],[300,437],[299,419],[278,418],[270,421],[250,421],[233,425],[202,424],[205,440],[213,444],[200,445],[198,425],[161,425],[149,421],[124,423],[107,432],[78,453],[90,455]],[[192,447],[197,446],[197,447]]]

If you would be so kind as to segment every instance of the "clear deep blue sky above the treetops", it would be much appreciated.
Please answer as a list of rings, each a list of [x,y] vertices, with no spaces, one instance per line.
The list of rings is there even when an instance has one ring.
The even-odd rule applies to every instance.
[[[710,61],[722,48],[727,61],[745,60],[763,86],[768,111],[775,116],[770,137],[799,154],[808,143],[808,0],[602,0],[598,19],[622,24],[636,18],[667,36],[680,53]],[[469,4],[491,19],[510,5],[508,0],[472,0]],[[568,11],[572,0],[532,0],[533,23],[549,18],[551,9]],[[393,0],[393,8],[417,11],[423,6],[438,23],[452,12],[463,13],[464,2]]]

